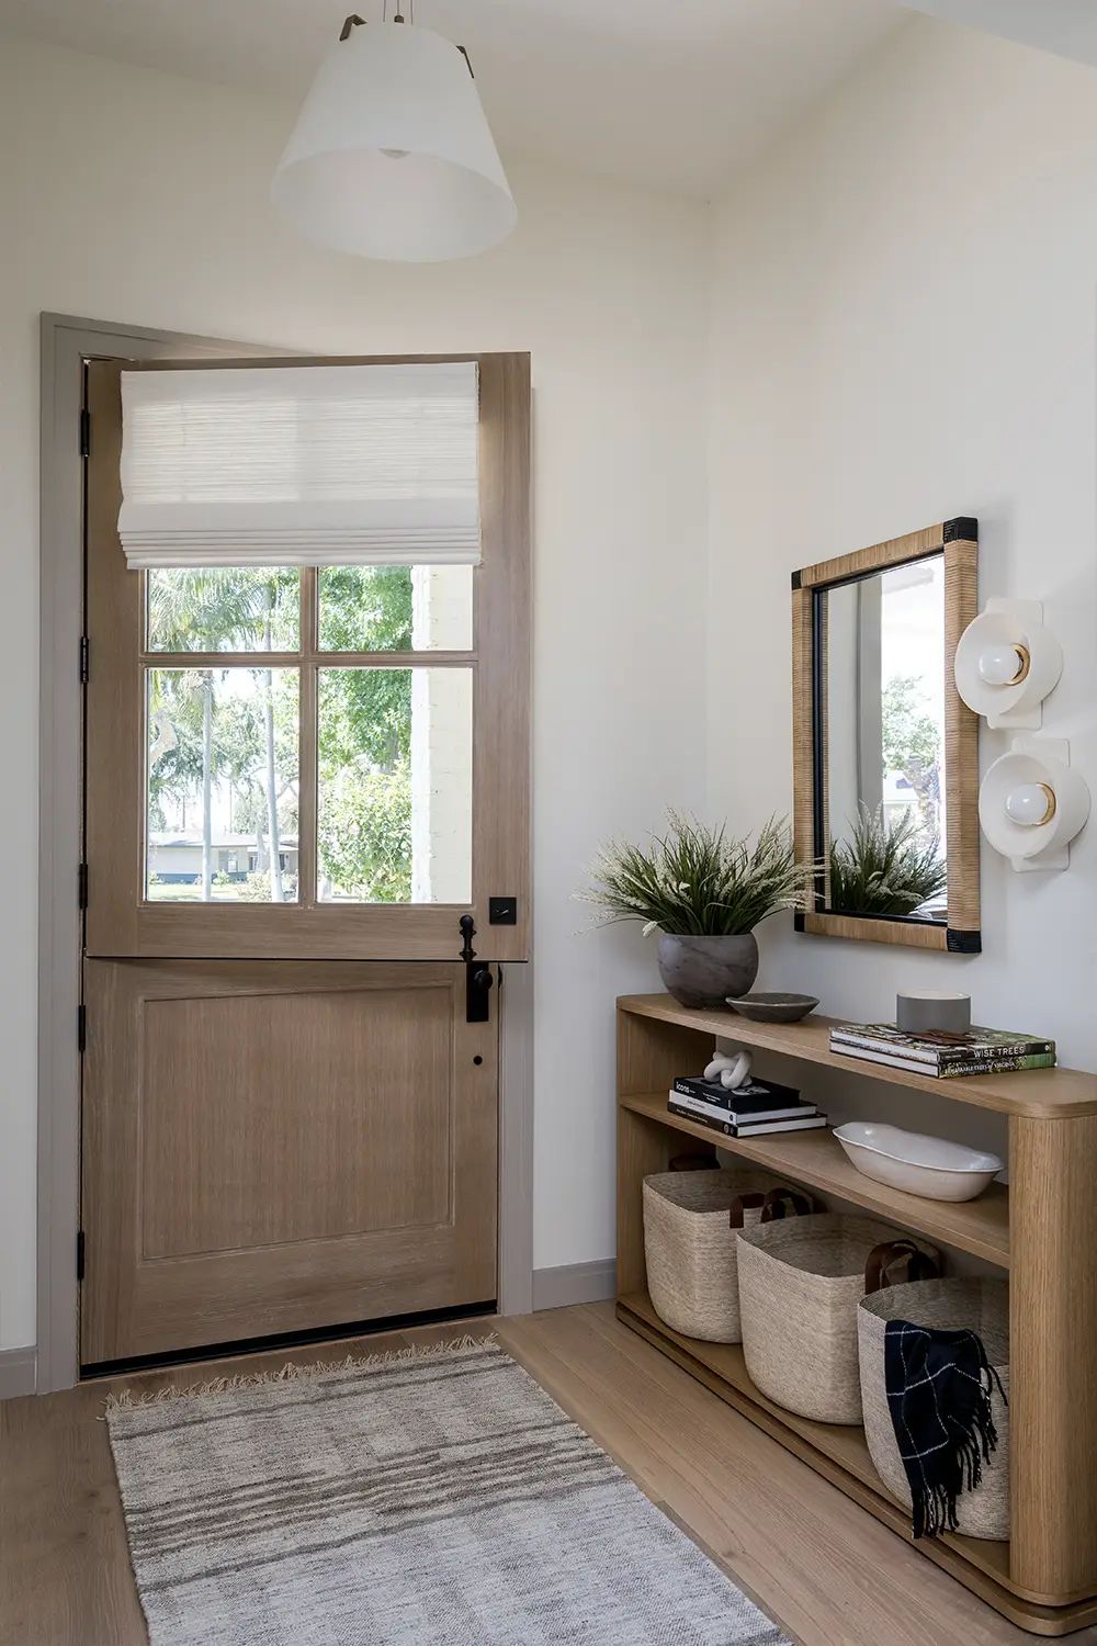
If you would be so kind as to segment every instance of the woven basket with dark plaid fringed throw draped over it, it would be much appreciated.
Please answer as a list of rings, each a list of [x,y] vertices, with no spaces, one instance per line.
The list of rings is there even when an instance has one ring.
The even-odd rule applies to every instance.
[[[885,1389],[883,1337],[888,1320],[910,1320],[916,1327],[941,1332],[962,1328],[977,1332],[1008,1399],[1010,1287],[1005,1281],[921,1281],[914,1286],[891,1286],[873,1297],[862,1299],[857,1310],[857,1341],[865,1440],[886,1491],[910,1509],[910,1483],[895,1440]],[[1010,1536],[1010,1412],[993,1379],[990,1383],[990,1411],[998,1430],[998,1445],[990,1453],[990,1462],[984,1462],[979,1486],[959,1498],[956,1518],[959,1531],[965,1537],[1007,1541]]]

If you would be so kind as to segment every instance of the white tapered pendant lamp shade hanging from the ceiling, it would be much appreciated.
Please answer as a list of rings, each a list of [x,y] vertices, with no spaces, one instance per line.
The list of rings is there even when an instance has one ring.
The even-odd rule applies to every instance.
[[[332,46],[271,199],[306,239],[400,263],[470,257],[518,221],[467,58],[408,23]]]

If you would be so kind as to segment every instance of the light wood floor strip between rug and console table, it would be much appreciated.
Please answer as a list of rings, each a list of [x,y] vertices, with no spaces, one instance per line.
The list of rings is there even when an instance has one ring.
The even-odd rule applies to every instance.
[[[633,1345],[612,1305],[508,1322],[502,1335],[806,1646],[1031,1646],[658,1350]]]

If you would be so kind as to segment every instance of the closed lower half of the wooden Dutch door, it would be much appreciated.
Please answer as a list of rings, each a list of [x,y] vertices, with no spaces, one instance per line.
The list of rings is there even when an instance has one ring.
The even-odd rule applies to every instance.
[[[86,1365],[495,1297],[464,966],[90,960],[86,997]]]

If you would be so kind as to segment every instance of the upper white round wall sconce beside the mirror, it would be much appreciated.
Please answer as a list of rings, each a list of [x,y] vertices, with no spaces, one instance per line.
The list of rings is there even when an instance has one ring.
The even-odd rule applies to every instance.
[[[1039,601],[990,599],[956,649],[956,690],[987,724],[1038,731],[1043,701],[1062,673],[1062,647]]]

